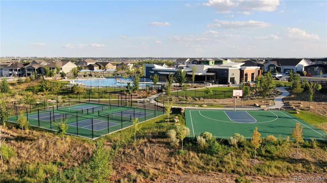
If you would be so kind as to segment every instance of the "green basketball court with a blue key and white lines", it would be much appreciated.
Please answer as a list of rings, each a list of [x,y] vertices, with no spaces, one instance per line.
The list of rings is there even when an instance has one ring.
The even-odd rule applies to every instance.
[[[296,123],[303,127],[303,137],[321,139],[324,132],[307,122],[284,111],[222,111],[222,110],[185,110],[186,126],[190,137],[209,132],[217,138],[229,138],[238,133],[246,138],[252,136],[255,127],[261,137],[274,135],[291,137]]]

